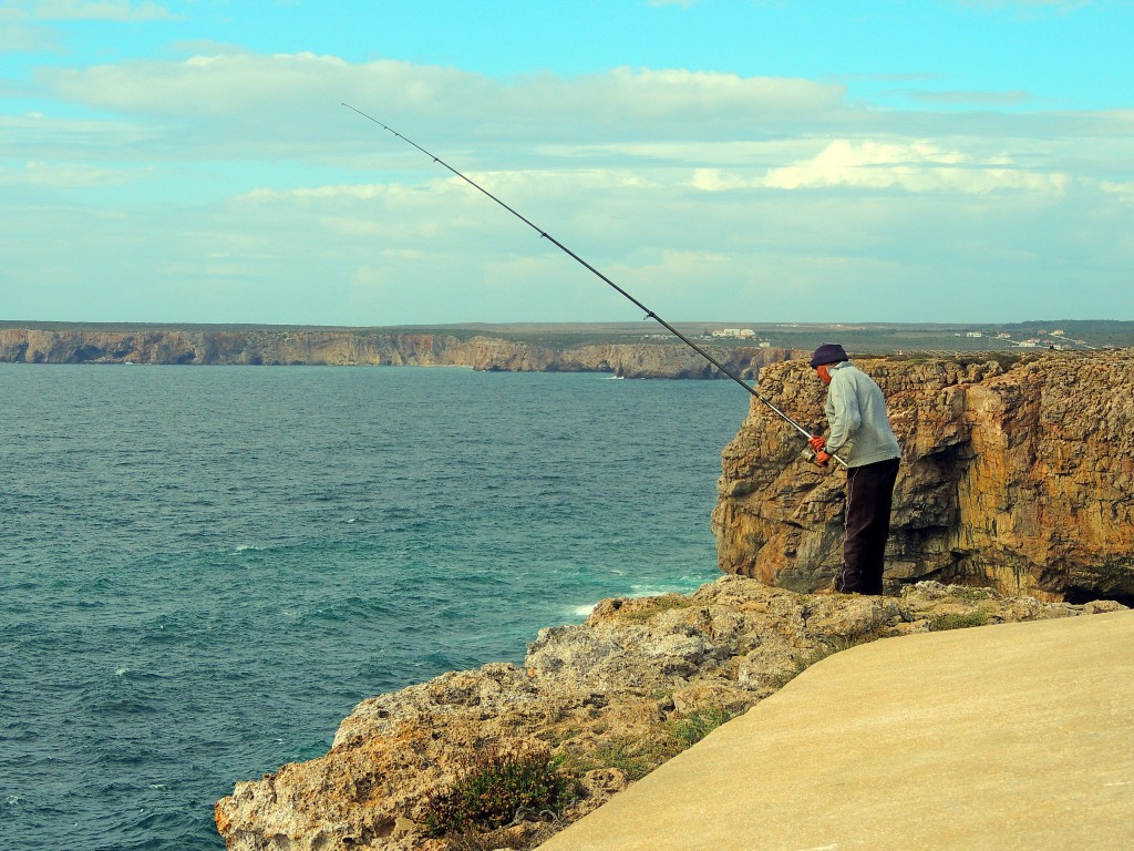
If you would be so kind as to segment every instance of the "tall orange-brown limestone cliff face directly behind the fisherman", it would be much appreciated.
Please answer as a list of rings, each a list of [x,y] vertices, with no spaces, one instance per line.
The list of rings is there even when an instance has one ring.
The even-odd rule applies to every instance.
[[[856,362],[903,446],[887,576],[992,584],[1049,599],[1134,596],[1134,352],[1026,362]],[[762,395],[824,432],[804,362]],[[721,570],[796,590],[841,559],[845,475],[755,401],[722,453],[712,525]]]

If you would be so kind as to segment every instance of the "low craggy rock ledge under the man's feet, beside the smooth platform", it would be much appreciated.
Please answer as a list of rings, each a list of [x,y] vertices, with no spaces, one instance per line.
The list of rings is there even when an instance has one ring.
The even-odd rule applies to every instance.
[[[584,624],[542,630],[522,667],[363,701],[325,756],[238,783],[217,826],[231,851],[531,848],[833,651],[1119,608],[936,582],[801,595],[741,576],[606,600]]]

